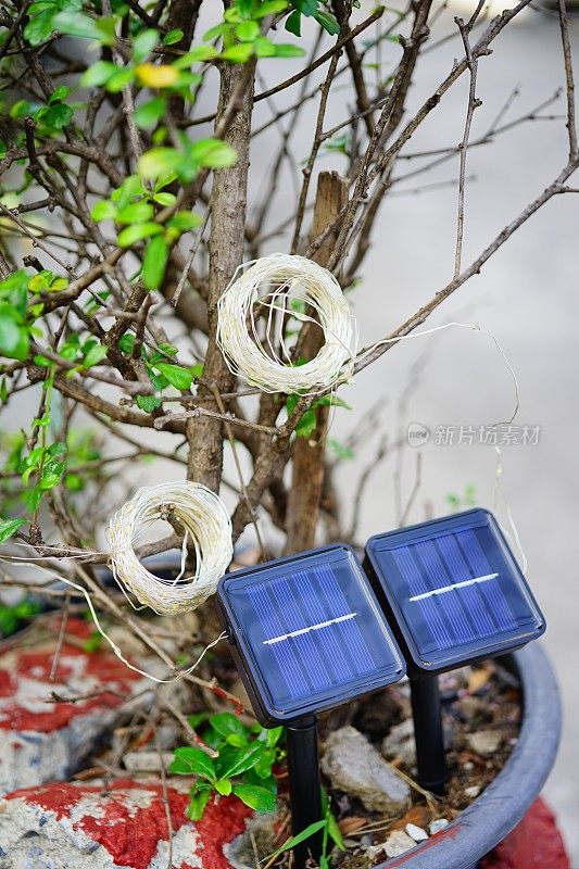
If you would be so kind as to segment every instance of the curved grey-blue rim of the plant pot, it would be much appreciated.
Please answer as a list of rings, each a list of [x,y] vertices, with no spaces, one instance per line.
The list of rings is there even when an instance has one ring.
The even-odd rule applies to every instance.
[[[523,721],[503,769],[448,827],[375,869],[474,869],[517,826],[539,795],[561,735],[557,682],[540,643],[508,658],[521,682]]]

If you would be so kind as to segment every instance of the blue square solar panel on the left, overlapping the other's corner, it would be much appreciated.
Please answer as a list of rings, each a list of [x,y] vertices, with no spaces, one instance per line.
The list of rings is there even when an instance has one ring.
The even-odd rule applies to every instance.
[[[343,544],[229,574],[217,601],[265,726],[330,708],[404,675],[388,621]]]

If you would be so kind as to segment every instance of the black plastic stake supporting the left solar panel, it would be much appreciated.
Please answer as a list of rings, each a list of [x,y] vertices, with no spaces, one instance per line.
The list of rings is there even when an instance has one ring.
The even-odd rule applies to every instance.
[[[286,728],[293,835],[323,818],[317,718],[304,718]],[[318,862],[323,833],[309,836],[293,848],[295,869],[303,869],[310,856]]]

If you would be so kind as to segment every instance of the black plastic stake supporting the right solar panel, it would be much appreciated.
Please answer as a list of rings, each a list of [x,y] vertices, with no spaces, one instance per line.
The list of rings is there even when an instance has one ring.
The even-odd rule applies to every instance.
[[[418,783],[442,795],[446,783],[438,676],[411,680]]]

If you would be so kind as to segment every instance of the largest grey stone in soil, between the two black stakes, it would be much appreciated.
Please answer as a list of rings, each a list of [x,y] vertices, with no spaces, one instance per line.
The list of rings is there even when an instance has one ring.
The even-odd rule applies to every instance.
[[[322,769],[333,788],[360,797],[369,811],[397,813],[406,807],[408,785],[353,727],[330,734]]]

